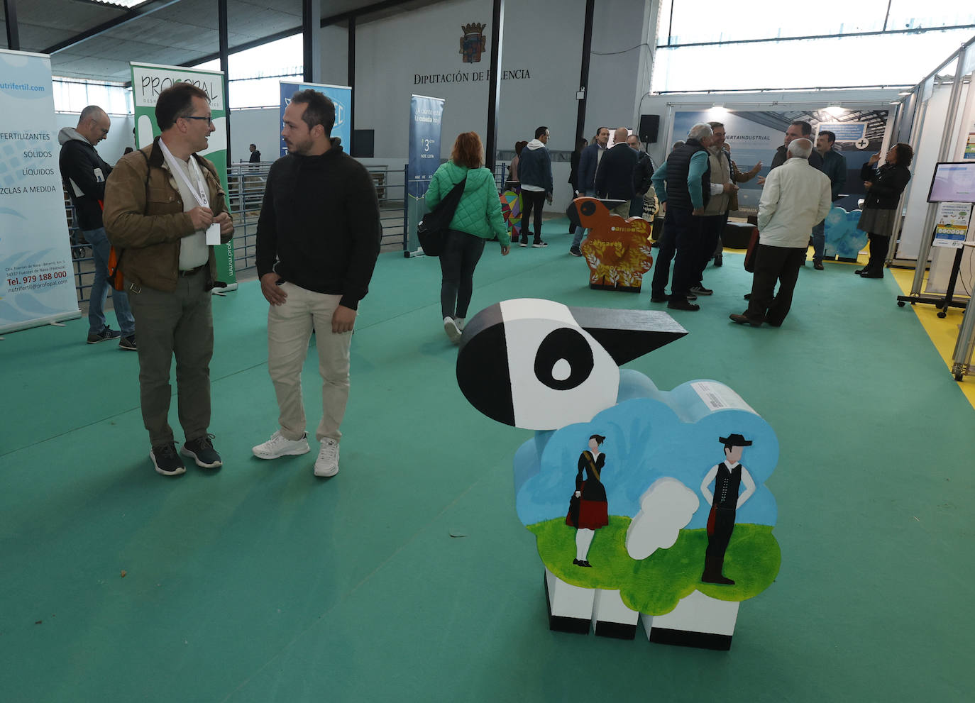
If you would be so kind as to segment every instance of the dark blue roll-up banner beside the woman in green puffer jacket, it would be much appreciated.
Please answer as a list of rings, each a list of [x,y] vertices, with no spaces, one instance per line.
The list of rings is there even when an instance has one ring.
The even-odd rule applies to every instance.
[[[444,98],[409,98],[409,167],[407,169],[407,231],[403,249],[407,256],[418,253],[416,223],[426,215],[426,191],[440,166],[440,128],[444,119]]]

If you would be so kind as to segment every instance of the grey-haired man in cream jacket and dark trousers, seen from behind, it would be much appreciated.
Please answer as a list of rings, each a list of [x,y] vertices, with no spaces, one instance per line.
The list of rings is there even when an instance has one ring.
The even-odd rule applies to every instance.
[[[781,327],[792,307],[799,269],[805,261],[809,231],[829,212],[830,179],[809,165],[809,139],[789,144],[788,158],[765,179],[759,201],[759,249],[748,309],[730,315],[739,325]],[[775,294],[775,281],[779,293]]]

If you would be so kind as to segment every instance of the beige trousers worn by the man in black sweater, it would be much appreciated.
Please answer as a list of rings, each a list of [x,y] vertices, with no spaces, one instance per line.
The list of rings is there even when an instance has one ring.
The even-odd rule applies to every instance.
[[[281,434],[297,440],[305,433],[301,368],[314,325],[318,371],[322,376],[322,421],[315,437],[320,442],[325,438],[338,442],[342,437],[338,427],[349,399],[352,342],[352,332],[331,332],[331,316],[341,295],[313,293],[287,282],[281,288],[288,298],[283,305],[271,305],[267,312],[267,371],[278,398]]]

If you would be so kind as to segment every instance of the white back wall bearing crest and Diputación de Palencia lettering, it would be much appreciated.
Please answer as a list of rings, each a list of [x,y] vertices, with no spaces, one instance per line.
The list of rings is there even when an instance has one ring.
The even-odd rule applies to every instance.
[[[649,76],[649,8],[654,0],[601,0],[594,16],[590,92],[584,134],[597,127],[636,128],[636,107]],[[356,28],[355,126],[375,131],[370,164],[401,169],[409,150],[409,96],[446,98],[441,157],[448,158],[461,132],[487,131],[487,80],[476,80],[490,64],[490,0],[457,0],[362,21]],[[486,24],[485,51],[479,62],[465,63],[459,53],[462,26]],[[552,151],[571,152],[575,137],[582,59],[585,0],[525,0],[507,3],[502,70],[517,76],[501,81],[497,117],[498,149],[513,150],[545,125]],[[348,81],[347,30],[323,27],[322,81]],[[463,80],[466,74],[466,80]],[[450,82],[417,82],[417,76],[449,75]],[[459,82],[453,82],[459,77]],[[420,79],[422,81],[422,79]],[[645,111],[645,110],[644,110]],[[250,142],[265,161],[276,157],[278,110],[231,112],[231,150],[235,162],[247,160]],[[567,161],[554,161],[555,202],[565,212],[571,197]]]

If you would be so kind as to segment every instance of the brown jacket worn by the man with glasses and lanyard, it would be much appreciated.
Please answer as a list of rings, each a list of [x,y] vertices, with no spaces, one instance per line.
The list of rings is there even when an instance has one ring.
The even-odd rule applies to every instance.
[[[145,148],[126,154],[105,183],[105,233],[121,255],[119,266],[126,285],[175,291],[179,276],[179,245],[196,230],[176,179],[164,164],[159,137]],[[227,210],[223,188],[213,163],[193,154],[210,190],[214,215]],[[233,235],[224,235],[226,244]],[[216,278],[216,257],[210,247],[210,288]]]

